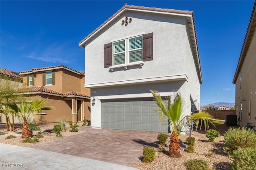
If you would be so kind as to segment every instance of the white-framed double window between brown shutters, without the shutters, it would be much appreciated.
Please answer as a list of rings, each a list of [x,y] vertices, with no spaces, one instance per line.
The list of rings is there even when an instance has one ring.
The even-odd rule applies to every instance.
[[[142,61],[142,36],[113,43],[113,65]]]

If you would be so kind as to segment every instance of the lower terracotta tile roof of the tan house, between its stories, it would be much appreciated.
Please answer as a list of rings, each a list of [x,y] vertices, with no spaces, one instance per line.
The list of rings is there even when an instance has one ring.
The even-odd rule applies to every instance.
[[[20,90],[20,93],[32,93],[32,92],[40,92],[40,93],[45,92],[45,93],[49,93],[49,94],[57,94],[57,95],[60,95],[60,96],[63,96],[63,97],[68,97],[68,96],[81,96],[81,97],[90,98],[90,96],[87,96],[87,95],[82,94],[82,93],[74,92],[74,91],[71,91],[71,92],[62,94],[62,93],[60,93],[60,92],[57,92],[57,91],[55,91],[55,90],[46,88],[46,87],[44,87],[44,86],[28,87],[28,88],[24,88],[24,89],[21,89],[21,90]]]

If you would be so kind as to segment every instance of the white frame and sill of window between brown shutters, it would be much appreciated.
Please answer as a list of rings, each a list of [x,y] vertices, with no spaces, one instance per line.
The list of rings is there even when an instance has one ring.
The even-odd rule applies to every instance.
[[[132,39],[132,38],[136,38],[136,37],[141,37],[141,48],[138,48],[138,49],[132,49],[132,50],[129,50],[129,40]],[[112,53],[112,66],[110,66],[109,68],[118,68],[119,66],[120,67],[123,67],[125,65],[127,66],[131,66],[131,65],[140,65],[140,64],[144,64],[144,62],[142,61],[142,47],[143,47],[143,44],[142,44],[142,38],[143,36],[142,35],[137,35],[137,36],[133,36],[133,37],[127,37],[126,39],[120,39],[118,41],[114,41],[112,42],[112,50],[113,50],[113,53]],[[120,41],[124,41],[124,52],[118,52],[118,53],[114,53],[114,43],[116,42],[120,42]],[[135,62],[131,62],[130,63],[130,52],[132,51],[137,51],[137,50],[141,50],[141,60],[140,61],[135,61]],[[124,53],[124,64],[116,64],[114,65],[114,55],[116,54],[120,54],[120,53]],[[134,64],[133,64],[134,63]]]

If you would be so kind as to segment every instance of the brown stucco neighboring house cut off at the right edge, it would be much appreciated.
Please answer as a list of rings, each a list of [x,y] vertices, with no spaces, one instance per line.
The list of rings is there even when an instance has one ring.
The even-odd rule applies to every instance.
[[[244,37],[233,79],[236,84],[236,114],[241,127],[256,126],[256,1]]]

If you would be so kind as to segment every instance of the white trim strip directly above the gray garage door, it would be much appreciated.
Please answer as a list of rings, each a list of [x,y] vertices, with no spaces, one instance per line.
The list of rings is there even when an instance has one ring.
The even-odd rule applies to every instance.
[[[175,92],[160,92],[160,96],[173,96]],[[122,94],[122,95],[111,95],[111,96],[99,96],[99,100],[106,99],[124,99],[124,98],[150,98],[153,97],[152,93],[140,93],[140,94]]]

